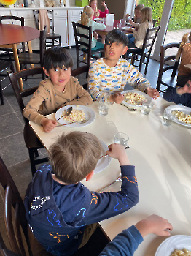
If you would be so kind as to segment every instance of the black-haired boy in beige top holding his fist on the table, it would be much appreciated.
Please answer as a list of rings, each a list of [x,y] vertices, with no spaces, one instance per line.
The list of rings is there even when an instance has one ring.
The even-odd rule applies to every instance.
[[[39,83],[39,88],[23,110],[23,115],[34,123],[42,125],[44,132],[50,132],[57,122],[44,115],[54,113],[66,105],[90,105],[93,99],[80,86],[77,78],[71,76],[73,61],[69,52],[55,46],[44,53],[44,73],[49,77]]]

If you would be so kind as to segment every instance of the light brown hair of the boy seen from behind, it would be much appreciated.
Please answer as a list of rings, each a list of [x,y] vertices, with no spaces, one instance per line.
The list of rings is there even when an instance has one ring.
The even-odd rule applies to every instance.
[[[101,148],[91,133],[74,131],[61,135],[49,150],[53,173],[66,184],[82,181],[95,169]]]

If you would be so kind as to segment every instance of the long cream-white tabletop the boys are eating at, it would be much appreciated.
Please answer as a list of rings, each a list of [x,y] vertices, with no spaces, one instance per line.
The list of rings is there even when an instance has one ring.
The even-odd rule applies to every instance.
[[[175,123],[170,127],[161,124],[163,110],[168,105],[171,103],[159,97],[150,115],[144,116],[139,110],[130,112],[125,106],[114,104],[110,106],[108,116],[99,116],[98,102],[93,102],[90,108],[95,111],[95,121],[87,127],[76,129],[92,132],[107,145],[114,143],[117,132],[129,135],[130,149],[127,154],[130,164],[136,166],[140,199],[135,207],[124,214],[100,222],[110,239],[151,214],[158,214],[171,222],[174,227],[172,236],[191,236],[191,129]],[[54,116],[52,114],[49,118]],[[37,124],[30,124],[47,150],[58,135],[74,129],[57,127],[47,134]],[[114,181],[119,173],[119,163],[112,159],[105,170],[82,183],[96,191]],[[109,190],[120,190],[120,182],[109,187]],[[135,255],[154,256],[163,240],[165,237],[147,236]]]

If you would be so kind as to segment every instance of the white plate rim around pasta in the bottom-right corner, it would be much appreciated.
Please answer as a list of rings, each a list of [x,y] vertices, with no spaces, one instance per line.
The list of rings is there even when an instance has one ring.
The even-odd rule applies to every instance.
[[[170,256],[174,249],[182,250],[184,248],[191,251],[191,236],[171,236],[160,244],[155,256]]]

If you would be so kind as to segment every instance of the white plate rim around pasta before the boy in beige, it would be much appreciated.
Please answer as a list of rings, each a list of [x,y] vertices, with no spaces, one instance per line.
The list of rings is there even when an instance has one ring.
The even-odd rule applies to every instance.
[[[83,105],[68,105],[68,106],[64,106],[63,108],[59,108],[55,113],[55,119],[58,120],[58,118],[60,118],[63,115],[63,111],[69,107],[72,107],[73,109],[77,109],[77,110],[83,110],[87,121],[82,124],[68,124],[69,121],[63,120],[63,118],[61,118],[58,121],[60,124],[68,124],[66,125],[66,127],[85,127],[88,124],[93,123],[93,121],[95,120],[95,112],[91,108],[88,108]]]

